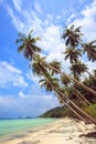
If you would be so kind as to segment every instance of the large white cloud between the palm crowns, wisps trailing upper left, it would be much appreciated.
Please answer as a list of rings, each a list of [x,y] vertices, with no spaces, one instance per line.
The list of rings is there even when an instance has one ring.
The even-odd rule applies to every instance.
[[[34,3],[36,11],[41,11],[42,9],[38,3]],[[10,8],[11,9],[11,8]],[[12,22],[18,31],[28,32],[31,28],[34,30],[34,35],[41,37],[42,41],[36,44],[42,48],[42,50],[47,55],[47,61],[52,61],[54,59],[58,59],[64,63],[64,70],[70,65],[68,62],[64,60],[64,56],[61,53],[64,51],[65,45],[61,40],[63,28],[60,24],[54,24],[53,16],[46,14],[46,19],[42,20],[39,18],[36,11],[33,11],[30,7],[28,10],[23,10],[22,21],[20,16],[15,16],[13,10],[8,9],[9,14],[12,18]],[[10,12],[11,11],[11,12]],[[74,17],[74,16],[72,16]],[[19,19],[19,20],[18,20]],[[18,21],[18,23],[17,23]]]

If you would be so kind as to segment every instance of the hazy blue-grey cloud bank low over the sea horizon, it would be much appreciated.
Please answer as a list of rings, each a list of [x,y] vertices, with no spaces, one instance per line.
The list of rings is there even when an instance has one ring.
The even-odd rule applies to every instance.
[[[26,95],[20,91],[19,96],[0,95],[0,117],[38,116],[58,105],[56,97],[51,94]]]

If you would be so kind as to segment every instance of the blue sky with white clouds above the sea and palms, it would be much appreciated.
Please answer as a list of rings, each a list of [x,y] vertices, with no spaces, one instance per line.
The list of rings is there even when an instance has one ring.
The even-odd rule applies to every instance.
[[[0,0],[0,117],[38,116],[60,105],[53,93],[39,86],[29,62],[19,54],[15,39],[19,32],[34,30],[41,37],[38,43],[47,61],[63,61],[67,72],[68,61],[61,53],[64,25],[83,25],[85,41],[96,38],[96,0]],[[83,60],[89,71],[96,66]]]

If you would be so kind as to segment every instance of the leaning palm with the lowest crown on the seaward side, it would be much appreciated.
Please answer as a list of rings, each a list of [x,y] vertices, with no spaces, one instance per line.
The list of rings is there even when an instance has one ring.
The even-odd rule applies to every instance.
[[[58,95],[58,99],[63,102],[63,104],[66,106],[66,107],[68,107],[68,110],[72,112],[72,113],[74,113],[78,119],[81,119],[81,120],[83,120],[83,121],[86,121],[83,116],[81,116],[81,114],[78,114],[72,106],[70,106],[68,105],[68,101],[70,101],[70,99],[67,100],[65,96],[64,96],[64,94],[57,89],[58,88],[58,83],[57,83],[57,79],[55,79],[55,78],[51,78],[51,75],[49,75],[49,74],[46,74],[46,73],[44,73],[44,79],[42,79],[42,80],[40,80],[40,83],[41,83],[41,86],[42,88],[45,88],[46,89],[46,91],[54,91],[57,95]],[[73,103],[72,101],[71,101],[71,103]],[[75,103],[73,103],[73,105],[75,106]],[[78,106],[76,105],[76,109],[77,109]],[[78,107],[78,110],[81,110],[79,107]],[[81,112],[83,113],[83,111],[81,110]],[[85,114],[85,115],[87,115],[85,112],[83,113],[83,114]],[[89,116],[89,115],[88,115]],[[96,123],[95,122],[95,120],[93,120],[93,117],[88,117],[90,121],[93,121],[94,123]]]

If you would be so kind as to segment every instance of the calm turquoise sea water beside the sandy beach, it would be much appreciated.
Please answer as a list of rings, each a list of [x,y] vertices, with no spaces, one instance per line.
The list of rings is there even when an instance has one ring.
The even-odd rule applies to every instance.
[[[12,136],[24,134],[45,124],[56,121],[55,119],[21,119],[0,120],[0,142]]]

